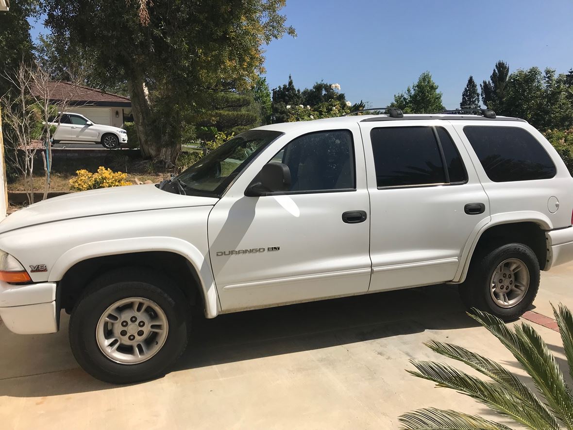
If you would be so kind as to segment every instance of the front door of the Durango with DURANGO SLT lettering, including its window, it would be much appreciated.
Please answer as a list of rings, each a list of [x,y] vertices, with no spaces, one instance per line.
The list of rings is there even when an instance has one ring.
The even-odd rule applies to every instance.
[[[289,191],[246,197],[249,183],[273,161],[289,167]],[[369,206],[357,124],[278,138],[209,216],[222,310],[366,292]]]

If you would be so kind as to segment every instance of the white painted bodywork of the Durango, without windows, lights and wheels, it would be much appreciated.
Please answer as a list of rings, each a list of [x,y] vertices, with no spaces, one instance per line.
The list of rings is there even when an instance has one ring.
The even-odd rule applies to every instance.
[[[122,253],[166,251],[185,257],[199,277],[205,313],[275,306],[381,290],[461,282],[473,250],[490,226],[531,221],[547,230],[548,263],[573,260],[573,179],[555,150],[527,123],[482,122],[526,128],[556,167],[544,181],[489,181],[463,133],[464,120],[360,123],[369,116],[273,124],[284,134],[236,178],[221,198],[179,196],[153,185],[84,191],[19,210],[0,222],[0,249],[30,273],[34,284],[0,286],[0,315],[17,333],[57,329],[57,283],[74,264]],[[474,123],[473,123],[474,124]],[[369,131],[373,127],[445,127],[468,173],[462,185],[378,189]],[[292,139],[319,130],[350,130],[356,190],[245,197],[263,165]],[[548,205],[555,196],[559,208]],[[485,212],[467,215],[464,205]],[[342,213],[364,210],[367,221],[345,224]],[[555,230],[559,229],[559,230]],[[551,230],[551,231],[549,231]],[[269,247],[280,251],[268,252]],[[217,252],[265,252],[217,256]],[[190,282],[190,281],[189,281]],[[190,282],[191,284],[191,282]],[[193,285],[190,285],[193,287]],[[37,316],[37,323],[27,321]]]

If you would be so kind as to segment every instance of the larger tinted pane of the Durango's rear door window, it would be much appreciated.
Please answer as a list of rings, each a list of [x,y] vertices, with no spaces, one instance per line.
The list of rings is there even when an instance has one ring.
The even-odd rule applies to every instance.
[[[370,132],[379,187],[446,182],[431,127],[385,127]]]

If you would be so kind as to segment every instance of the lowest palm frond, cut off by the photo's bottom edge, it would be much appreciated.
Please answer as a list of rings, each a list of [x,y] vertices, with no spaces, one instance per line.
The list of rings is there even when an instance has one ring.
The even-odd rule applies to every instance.
[[[511,430],[511,428],[456,411],[426,408],[408,412],[398,420],[405,430]]]

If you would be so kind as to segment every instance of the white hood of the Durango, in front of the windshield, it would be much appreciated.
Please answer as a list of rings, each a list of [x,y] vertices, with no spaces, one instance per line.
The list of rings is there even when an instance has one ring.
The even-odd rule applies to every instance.
[[[160,190],[152,184],[80,191],[49,198],[17,210],[0,222],[0,233],[71,218],[140,210],[213,206],[217,201],[218,198],[214,197],[180,196]]]

